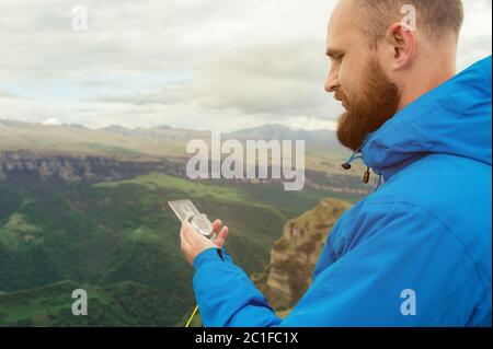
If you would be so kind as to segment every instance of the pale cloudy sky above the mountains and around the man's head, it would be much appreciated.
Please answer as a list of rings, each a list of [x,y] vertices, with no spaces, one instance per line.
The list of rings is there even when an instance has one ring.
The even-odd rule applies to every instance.
[[[334,129],[343,109],[323,84],[335,3],[1,0],[0,119]],[[492,53],[491,7],[465,1],[459,71]]]

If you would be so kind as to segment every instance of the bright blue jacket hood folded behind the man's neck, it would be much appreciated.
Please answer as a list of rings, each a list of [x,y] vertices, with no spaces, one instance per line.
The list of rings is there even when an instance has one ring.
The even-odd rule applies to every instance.
[[[388,179],[429,153],[469,158],[491,166],[492,57],[423,95],[367,136],[363,161]]]

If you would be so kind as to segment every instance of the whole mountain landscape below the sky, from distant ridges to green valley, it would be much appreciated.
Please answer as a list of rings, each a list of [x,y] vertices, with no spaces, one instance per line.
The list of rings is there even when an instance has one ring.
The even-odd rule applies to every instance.
[[[333,132],[323,135],[275,125],[223,135],[303,138],[307,185],[288,193],[278,181],[187,178],[186,142],[209,139],[207,131],[1,120],[0,326],[183,326],[194,307],[193,269],[167,205],[175,199],[222,219],[237,264],[274,290],[272,253],[287,222],[324,198],[356,202],[371,191],[357,166],[341,170],[345,151],[331,143]],[[84,317],[71,314],[80,288]]]

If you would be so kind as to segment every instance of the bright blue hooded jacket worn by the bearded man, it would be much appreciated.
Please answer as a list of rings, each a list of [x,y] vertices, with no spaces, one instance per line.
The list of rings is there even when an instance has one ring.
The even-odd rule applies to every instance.
[[[204,326],[491,326],[491,69],[489,57],[366,138],[383,185],[332,229],[286,318],[228,254],[198,255]]]

